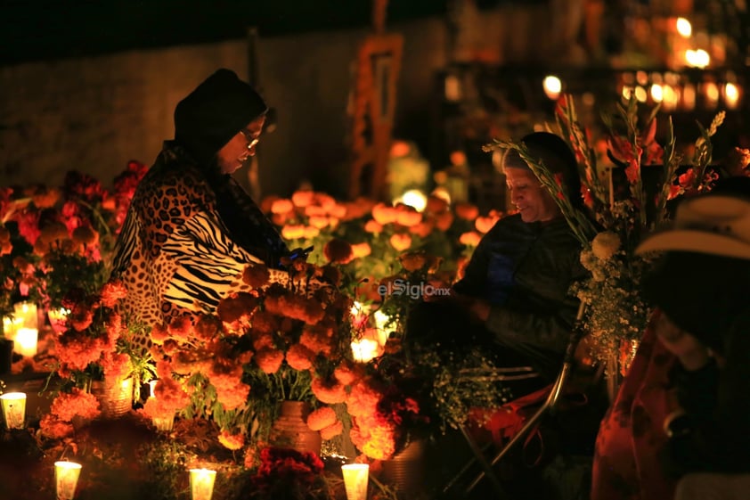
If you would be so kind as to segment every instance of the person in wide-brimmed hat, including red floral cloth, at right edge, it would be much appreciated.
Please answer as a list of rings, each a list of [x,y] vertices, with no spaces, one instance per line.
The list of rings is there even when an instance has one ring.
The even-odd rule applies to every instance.
[[[681,201],[637,251],[664,252],[643,283],[656,310],[599,430],[591,497],[746,498],[750,178]]]

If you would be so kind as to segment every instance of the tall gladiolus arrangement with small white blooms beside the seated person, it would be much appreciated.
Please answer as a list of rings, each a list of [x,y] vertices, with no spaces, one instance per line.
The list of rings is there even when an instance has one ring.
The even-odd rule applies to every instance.
[[[671,217],[669,201],[710,189],[717,178],[708,168],[711,137],[724,119],[720,112],[707,129],[698,124],[700,136],[686,169],[676,151],[671,119],[664,146],[656,142],[658,108],[643,119],[632,97],[625,105],[616,104],[615,110],[602,116],[607,168],[592,145],[591,132],[578,121],[572,97],[563,95],[558,101],[558,129],[575,153],[582,193],[567,193],[561,179],[530,158],[522,143],[495,140],[485,146],[485,151],[516,149],[552,193],[582,243],[581,261],[591,278],[576,284],[572,292],[587,303],[584,324],[592,355],[600,361],[617,356],[624,345],[634,346],[632,341],[644,332],[651,309],[640,296],[640,279],[653,256],[636,256],[634,250],[643,236]],[[573,208],[571,200],[577,196],[583,198],[588,213]]]

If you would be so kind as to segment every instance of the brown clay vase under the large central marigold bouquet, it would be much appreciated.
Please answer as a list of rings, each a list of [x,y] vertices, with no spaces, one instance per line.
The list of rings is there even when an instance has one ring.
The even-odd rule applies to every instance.
[[[312,406],[306,401],[282,401],[281,414],[273,422],[271,444],[320,455],[321,433],[307,427],[307,415],[311,410]]]

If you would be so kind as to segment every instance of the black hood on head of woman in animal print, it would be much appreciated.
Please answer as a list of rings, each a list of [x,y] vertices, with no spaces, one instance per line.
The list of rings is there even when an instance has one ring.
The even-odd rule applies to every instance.
[[[208,161],[232,136],[268,111],[263,98],[232,70],[217,70],[175,108],[175,140]]]

